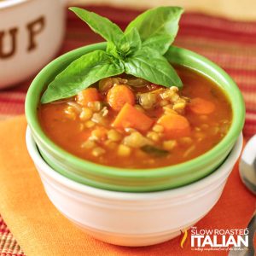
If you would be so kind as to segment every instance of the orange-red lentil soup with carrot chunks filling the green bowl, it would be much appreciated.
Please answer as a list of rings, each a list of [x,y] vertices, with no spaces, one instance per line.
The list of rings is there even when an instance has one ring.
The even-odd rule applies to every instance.
[[[71,154],[105,166],[154,168],[213,148],[232,120],[230,102],[211,80],[176,67],[183,89],[128,75],[102,79],[77,96],[41,104],[48,137]]]

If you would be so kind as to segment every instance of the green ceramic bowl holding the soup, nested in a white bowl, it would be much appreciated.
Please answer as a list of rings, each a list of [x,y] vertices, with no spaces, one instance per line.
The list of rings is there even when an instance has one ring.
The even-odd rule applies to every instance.
[[[233,110],[230,131],[214,148],[193,160],[175,166],[135,170],[102,166],[82,160],[52,142],[44,133],[38,121],[37,108],[42,91],[55,78],[55,75],[67,67],[71,61],[95,49],[106,49],[106,44],[91,44],[61,55],[38,73],[27,92],[27,123],[40,153],[49,166],[65,177],[96,188],[146,192],[172,189],[193,183],[213,172],[224,161],[236,143],[244,124],[245,107],[241,92],[235,82],[230,79],[230,76],[212,61],[187,49],[174,46],[170,47],[166,53],[167,59],[172,64],[189,67],[208,79],[212,79],[225,91],[230,99]]]

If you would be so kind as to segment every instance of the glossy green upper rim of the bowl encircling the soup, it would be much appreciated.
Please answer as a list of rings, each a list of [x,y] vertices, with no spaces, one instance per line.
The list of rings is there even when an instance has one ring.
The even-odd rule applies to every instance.
[[[37,111],[31,108],[31,105],[33,105],[32,102],[36,100],[36,97],[33,95],[37,93],[36,90],[37,90],[38,80],[41,79],[41,77],[44,76],[44,74],[49,73],[49,70],[51,69],[51,67],[61,64],[61,62],[64,59],[66,59],[68,56],[82,54],[84,53],[84,49],[87,49],[87,51],[91,51],[95,49],[105,49],[105,47],[106,47],[105,42],[98,43],[98,44],[90,44],[78,49],[73,49],[72,51],[69,51],[64,55],[59,56],[54,61],[49,62],[49,64],[38,73],[36,78],[32,81],[32,84],[29,90],[27,91],[26,102],[25,102],[25,112],[26,112],[27,123],[32,129],[32,134],[35,134],[36,137],[40,137],[41,138],[40,142],[44,143],[44,146],[46,148],[49,148],[50,151],[53,152],[55,155],[58,155],[61,158],[65,158],[69,162],[72,162],[73,166],[76,166],[79,169],[86,168],[86,172],[91,172],[91,173],[100,174],[100,175],[107,175],[108,177],[131,177],[131,178],[168,177],[170,176],[171,172],[172,172],[172,175],[183,174],[183,172],[188,172],[189,169],[193,169],[195,167],[199,169],[201,166],[205,166],[209,161],[209,159],[214,158],[214,155],[218,154],[221,148],[223,148],[225,145],[230,145],[232,143],[235,143],[236,137],[239,136],[244,124],[244,119],[245,119],[244,101],[241,96],[240,90],[236,86],[236,83],[233,81],[233,79],[230,78],[230,76],[227,73],[224,72],[222,68],[218,67],[212,61],[209,61],[206,57],[198,55],[195,52],[190,51],[189,49],[183,49],[183,48],[178,48],[176,46],[171,46],[170,49],[172,49],[172,51],[178,52],[179,55],[183,55],[183,56],[189,55],[190,58],[196,59],[197,61],[201,61],[204,64],[206,64],[207,68],[210,68],[215,72],[217,72],[218,74],[220,74],[223,77],[223,79],[226,80],[226,83],[232,87],[232,91],[230,93],[225,91],[232,105],[232,110],[233,110],[232,124],[230,125],[230,130],[228,131],[227,135],[220,141],[220,143],[218,143],[215,147],[207,151],[205,154],[201,154],[195,159],[192,159],[174,166],[164,166],[164,167],[149,168],[149,169],[128,169],[128,168],[99,165],[94,162],[90,162],[88,160],[83,160],[71,153],[68,153],[65,149],[56,145],[53,141],[49,139],[49,137],[47,137],[47,135],[44,133],[43,129],[41,128],[38,121],[37,114],[34,115],[34,113],[37,113]],[[183,66],[186,66],[186,65],[183,65]],[[195,69],[192,67],[189,67],[189,68]],[[200,70],[197,70],[197,69],[195,70],[201,73]],[[202,73],[202,74],[207,76],[206,73]],[[212,77],[210,79],[212,79]],[[236,104],[232,102],[233,98],[236,99]]]

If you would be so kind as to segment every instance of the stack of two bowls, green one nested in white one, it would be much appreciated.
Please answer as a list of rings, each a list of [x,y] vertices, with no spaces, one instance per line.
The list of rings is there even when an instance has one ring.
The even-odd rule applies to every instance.
[[[147,246],[178,236],[211,210],[241,153],[244,102],[224,71],[187,49],[171,47],[167,59],[212,79],[230,100],[230,130],[214,148],[193,160],[154,169],[101,166],[53,143],[38,121],[45,86],[67,65],[106,44],[61,55],[38,73],[26,96],[26,143],[49,200],[90,235],[123,246]]]

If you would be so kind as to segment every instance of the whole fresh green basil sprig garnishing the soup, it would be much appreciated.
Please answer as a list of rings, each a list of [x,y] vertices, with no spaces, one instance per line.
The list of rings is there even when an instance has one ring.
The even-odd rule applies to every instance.
[[[177,35],[183,9],[149,9],[132,20],[125,32],[93,12],[77,7],[70,9],[108,42],[107,49],[92,51],[73,61],[49,84],[42,103],[74,96],[90,84],[120,73],[166,87],[182,87],[181,79],[164,55]]]

